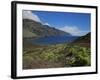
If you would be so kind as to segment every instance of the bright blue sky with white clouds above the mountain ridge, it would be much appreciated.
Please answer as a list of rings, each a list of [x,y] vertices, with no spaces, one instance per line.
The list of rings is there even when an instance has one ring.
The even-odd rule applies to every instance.
[[[40,22],[50,27],[68,32],[74,36],[83,36],[90,32],[91,15],[89,13],[23,11],[23,18]]]

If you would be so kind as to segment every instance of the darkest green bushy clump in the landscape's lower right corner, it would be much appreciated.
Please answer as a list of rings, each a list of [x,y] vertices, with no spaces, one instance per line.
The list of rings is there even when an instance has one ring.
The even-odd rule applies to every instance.
[[[67,65],[69,66],[89,66],[90,49],[80,46],[68,47]]]

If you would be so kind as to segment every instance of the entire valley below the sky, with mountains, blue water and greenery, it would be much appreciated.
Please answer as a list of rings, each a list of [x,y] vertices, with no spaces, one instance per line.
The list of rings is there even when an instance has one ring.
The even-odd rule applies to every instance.
[[[84,36],[23,20],[23,69],[91,66],[90,32]]]

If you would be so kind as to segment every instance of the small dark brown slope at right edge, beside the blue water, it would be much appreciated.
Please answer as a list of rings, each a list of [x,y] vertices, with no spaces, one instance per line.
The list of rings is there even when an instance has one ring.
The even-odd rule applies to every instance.
[[[73,43],[79,44],[79,45],[85,46],[85,47],[90,47],[90,42],[91,42],[90,40],[91,40],[91,33],[89,32],[88,34],[76,39]]]

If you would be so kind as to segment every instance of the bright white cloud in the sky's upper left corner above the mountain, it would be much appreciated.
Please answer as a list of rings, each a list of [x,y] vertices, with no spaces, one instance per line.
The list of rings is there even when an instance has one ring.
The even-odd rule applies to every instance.
[[[41,22],[40,18],[36,14],[32,13],[31,11],[23,11],[22,17],[23,19],[31,19],[36,22]]]

